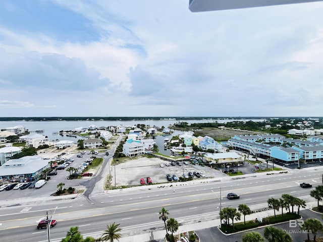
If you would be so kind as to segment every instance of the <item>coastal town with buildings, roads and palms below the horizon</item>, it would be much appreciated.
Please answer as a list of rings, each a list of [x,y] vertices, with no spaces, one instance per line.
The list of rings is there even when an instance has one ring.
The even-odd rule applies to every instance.
[[[1,127],[0,229],[12,241],[17,224],[25,241],[106,241],[111,231],[133,241],[239,241],[246,231],[304,241],[323,212],[323,118],[90,117],[48,136],[51,121],[39,119]],[[35,228],[44,229],[28,235]]]

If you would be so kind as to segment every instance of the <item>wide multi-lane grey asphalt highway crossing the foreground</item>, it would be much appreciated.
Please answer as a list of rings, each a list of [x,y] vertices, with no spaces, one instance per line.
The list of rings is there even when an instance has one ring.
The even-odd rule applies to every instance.
[[[83,235],[98,237],[106,224],[120,223],[123,233],[142,233],[163,229],[158,211],[165,207],[169,217],[180,224],[212,220],[218,217],[220,207],[237,207],[247,204],[252,210],[267,207],[267,199],[280,198],[288,193],[305,201],[315,201],[309,196],[311,189],[300,188],[300,183],[310,183],[313,188],[322,184],[323,169],[293,170],[287,174],[257,175],[247,178],[228,177],[222,181],[209,180],[202,184],[151,189],[123,190],[114,193],[95,193],[73,200],[51,201],[0,208],[1,241],[48,241],[46,229],[37,229],[37,221],[46,211],[58,221],[50,229],[50,241],[60,241],[72,226],[78,226]],[[179,184],[178,184],[179,185]],[[220,189],[221,188],[221,189]],[[221,192],[220,192],[221,190]],[[234,192],[238,200],[226,195]],[[221,200],[220,200],[221,193]],[[220,202],[221,201],[221,202]]]

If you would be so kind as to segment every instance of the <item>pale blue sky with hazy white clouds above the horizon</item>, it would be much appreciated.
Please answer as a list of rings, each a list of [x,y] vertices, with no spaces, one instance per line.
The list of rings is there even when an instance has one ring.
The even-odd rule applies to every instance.
[[[0,116],[323,116],[323,2],[0,1]]]

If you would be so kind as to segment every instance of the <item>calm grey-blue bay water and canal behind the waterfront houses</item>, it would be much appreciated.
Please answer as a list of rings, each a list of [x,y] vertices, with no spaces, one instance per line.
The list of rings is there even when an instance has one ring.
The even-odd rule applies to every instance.
[[[98,121],[92,121],[92,120],[83,120],[83,121],[65,121],[65,120],[57,120],[57,121],[11,121],[11,122],[5,122],[0,121],[0,129],[5,129],[9,127],[14,126],[23,126],[29,131],[35,131],[35,130],[44,130],[44,133],[42,135],[45,135],[48,137],[49,141],[52,140],[71,140],[74,142],[77,142],[80,138],[77,137],[67,137],[67,136],[61,136],[61,135],[53,135],[54,132],[59,132],[61,130],[63,131],[70,131],[75,130],[75,128],[88,128],[91,125],[95,125],[97,127],[108,127],[108,126],[133,126],[137,124],[144,124],[149,125],[150,127],[168,127],[170,125],[173,125],[178,122],[187,122],[188,124],[193,123],[226,123],[226,122],[233,122],[237,119],[212,119],[212,120],[131,120],[131,121],[104,121],[104,120],[98,120]],[[239,121],[249,121],[252,120],[254,122],[261,122],[263,119],[239,119]],[[166,150],[164,151],[164,139],[169,138],[171,140],[172,136],[183,134],[183,132],[180,131],[174,131],[174,133],[171,136],[156,136],[154,141],[158,145],[158,148],[161,153],[170,155],[170,151]]]

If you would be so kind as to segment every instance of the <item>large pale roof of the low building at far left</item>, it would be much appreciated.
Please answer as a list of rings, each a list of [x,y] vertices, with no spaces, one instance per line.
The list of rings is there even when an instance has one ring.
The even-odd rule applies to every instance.
[[[43,160],[39,155],[11,159],[0,166],[0,176],[32,174],[47,165],[49,166],[48,161]]]

